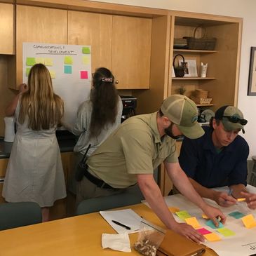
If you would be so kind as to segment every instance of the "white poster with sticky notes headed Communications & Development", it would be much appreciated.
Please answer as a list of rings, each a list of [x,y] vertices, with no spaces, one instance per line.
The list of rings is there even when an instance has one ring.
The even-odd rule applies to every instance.
[[[90,46],[23,43],[22,53],[23,83],[27,83],[29,70],[33,65],[46,65],[54,92],[65,102],[64,121],[74,123],[79,105],[88,100],[90,95]]]

